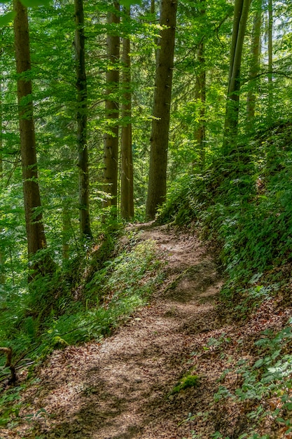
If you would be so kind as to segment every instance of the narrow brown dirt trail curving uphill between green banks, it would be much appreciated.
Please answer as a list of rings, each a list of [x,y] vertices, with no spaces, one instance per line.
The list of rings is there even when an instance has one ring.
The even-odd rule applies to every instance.
[[[155,240],[168,259],[163,289],[102,344],[55,351],[26,392],[22,415],[34,407],[31,424],[0,432],[1,439],[192,438],[183,419],[201,409],[204,384],[169,393],[190,369],[198,337],[218,327],[221,279],[196,236],[156,227],[141,238]]]

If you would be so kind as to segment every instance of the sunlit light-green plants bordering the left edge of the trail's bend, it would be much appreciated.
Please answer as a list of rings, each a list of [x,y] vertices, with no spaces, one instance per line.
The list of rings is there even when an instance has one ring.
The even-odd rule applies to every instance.
[[[125,250],[94,273],[84,285],[83,306],[77,313],[56,318],[48,336],[60,335],[74,344],[109,334],[145,303],[162,280],[159,266],[153,241],[133,241],[130,251]]]

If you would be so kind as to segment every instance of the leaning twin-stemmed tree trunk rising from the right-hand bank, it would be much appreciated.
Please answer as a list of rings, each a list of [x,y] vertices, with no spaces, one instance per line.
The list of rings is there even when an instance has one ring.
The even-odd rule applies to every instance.
[[[225,154],[228,154],[229,146],[237,135],[240,68],[242,64],[242,48],[250,4],[251,0],[235,0],[223,141],[223,152]]]

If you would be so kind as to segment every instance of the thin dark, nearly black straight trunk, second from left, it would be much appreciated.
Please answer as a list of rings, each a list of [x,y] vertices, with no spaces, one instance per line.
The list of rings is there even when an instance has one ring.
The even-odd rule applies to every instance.
[[[75,53],[77,88],[77,147],[79,169],[79,225],[81,238],[92,238],[89,214],[89,175],[87,145],[87,81],[85,72],[85,35],[83,0],[74,0],[75,4]]]

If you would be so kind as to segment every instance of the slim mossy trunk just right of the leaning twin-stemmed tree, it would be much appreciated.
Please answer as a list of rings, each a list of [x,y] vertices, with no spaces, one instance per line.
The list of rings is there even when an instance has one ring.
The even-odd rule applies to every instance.
[[[249,69],[249,90],[246,98],[246,119],[247,128],[253,126],[253,117],[256,107],[256,95],[254,93],[254,81],[258,74],[258,62],[260,56],[260,27],[262,19],[262,2],[260,1],[259,9],[253,16],[253,31],[251,36],[251,66]]]

